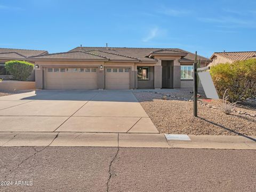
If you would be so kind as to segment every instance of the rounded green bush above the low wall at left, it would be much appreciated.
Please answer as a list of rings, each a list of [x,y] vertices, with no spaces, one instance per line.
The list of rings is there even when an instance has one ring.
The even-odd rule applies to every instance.
[[[14,80],[26,81],[34,69],[34,65],[26,61],[7,61],[5,69],[13,75]]]

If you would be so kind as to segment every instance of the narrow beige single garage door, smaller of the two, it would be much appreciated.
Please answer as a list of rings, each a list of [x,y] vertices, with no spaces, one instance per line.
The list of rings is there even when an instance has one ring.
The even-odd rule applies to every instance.
[[[106,89],[130,89],[129,68],[106,68]]]

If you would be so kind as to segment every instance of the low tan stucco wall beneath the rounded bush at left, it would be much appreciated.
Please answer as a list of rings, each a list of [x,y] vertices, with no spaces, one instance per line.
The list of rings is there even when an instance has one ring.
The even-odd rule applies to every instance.
[[[3,81],[0,82],[0,90],[17,91],[35,89],[35,82],[25,81]]]

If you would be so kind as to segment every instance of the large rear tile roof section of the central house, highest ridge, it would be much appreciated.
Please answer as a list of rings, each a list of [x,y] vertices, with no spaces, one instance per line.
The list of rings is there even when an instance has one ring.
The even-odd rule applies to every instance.
[[[185,61],[194,61],[195,60],[195,54],[181,50],[181,49],[167,49],[167,48],[134,48],[134,47],[76,47],[73,50],[70,51],[92,51],[92,50],[98,50],[98,51],[104,51],[108,52],[109,54],[118,54],[123,57],[130,57],[133,59],[138,59],[141,61],[156,61],[154,58],[149,58],[148,55],[151,52],[163,52],[163,53],[187,53],[183,59]],[[109,56],[110,57],[110,56]],[[205,57],[202,57],[198,55],[198,59],[201,60],[209,60]],[[181,59],[181,60],[183,60]]]

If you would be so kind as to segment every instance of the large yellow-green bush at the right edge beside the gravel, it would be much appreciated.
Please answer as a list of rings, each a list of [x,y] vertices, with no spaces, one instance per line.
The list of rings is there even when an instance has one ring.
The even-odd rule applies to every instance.
[[[256,59],[221,63],[210,73],[220,97],[227,89],[230,102],[256,97]]]

